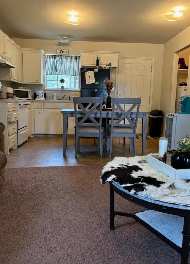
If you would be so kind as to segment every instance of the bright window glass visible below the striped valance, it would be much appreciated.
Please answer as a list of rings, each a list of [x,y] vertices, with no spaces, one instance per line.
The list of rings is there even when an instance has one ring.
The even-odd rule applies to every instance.
[[[46,75],[46,89],[61,89],[60,79],[64,79],[64,90],[79,89],[79,76]]]

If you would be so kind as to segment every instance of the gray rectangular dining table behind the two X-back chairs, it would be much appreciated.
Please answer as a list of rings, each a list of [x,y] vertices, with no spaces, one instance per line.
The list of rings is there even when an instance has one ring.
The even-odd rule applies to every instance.
[[[81,109],[77,110],[79,112],[78,117],[83,117],[84,113]],[[81,112],[81,113],[80,113]],[[74,109],[62,109],[61,113],[63,114],[63,155],[66,155],[66,145],[67,145],[67,129],[68,129],[68,117],[75,117]],[[145,154],[146,147],[146,130],[147,130],[147,116],[149,112],[139,112],[139,118],[142,118],[142,154]],[[121,111],[114,110],[114,117],[120,117],[122,115]],[[95,110],[93,117],[99,117],[100,111]],[[131,119],[136,117],[136,112],[132,111],[129,114]],[[102,118],[111,118],[111,111],[102,111]]]

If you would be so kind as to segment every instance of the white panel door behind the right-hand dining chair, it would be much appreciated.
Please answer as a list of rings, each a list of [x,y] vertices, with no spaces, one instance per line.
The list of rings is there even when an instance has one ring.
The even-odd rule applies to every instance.
[[[126,98],[140,97],[140,111],[144,112],[149,111],[151,68],[151,59],[119,58],[117,96]],[[141,125],[142,119],[139,119],[137,133],[142,133]]]

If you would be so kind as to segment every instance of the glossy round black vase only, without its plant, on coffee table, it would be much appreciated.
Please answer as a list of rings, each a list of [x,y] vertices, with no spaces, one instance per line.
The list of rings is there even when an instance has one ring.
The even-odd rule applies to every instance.
[[[174,169],[190,169],[190,152],[174,151],[171,156],[171,165]]]

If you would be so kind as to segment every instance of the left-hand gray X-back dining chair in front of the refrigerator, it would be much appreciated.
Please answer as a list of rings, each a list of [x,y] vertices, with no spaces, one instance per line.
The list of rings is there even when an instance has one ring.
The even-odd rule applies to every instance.
[[[102,158],[104,133],[104,127],[102,127],[103,101],[103,97],[73,97],[76,126],[75,158],[77,158],[78,151],[80,151],[80,137],[97,137],[98,150],[100,152],[100,158]],[[84,104],[87,105],[84,106]],[[94,112],[97,108],[99,108],[98,118],[94,118]],[[91,121],[90,123],[89,120]]]

